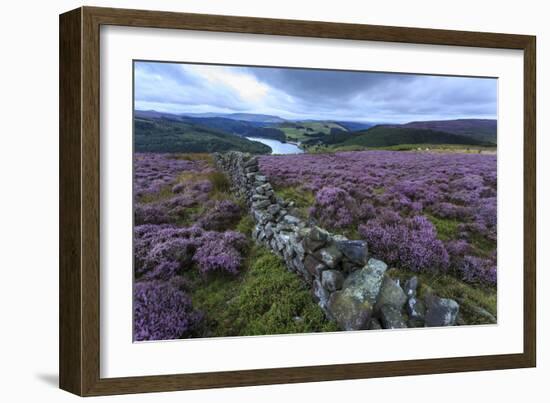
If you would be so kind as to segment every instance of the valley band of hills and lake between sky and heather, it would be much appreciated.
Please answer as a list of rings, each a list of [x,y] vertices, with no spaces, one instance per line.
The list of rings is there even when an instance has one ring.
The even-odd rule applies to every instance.
[[[490,119],[378,124],[290,121],[255,114],[169,114],[157,111],[136,111],[134,118],[138,152],[233,150],[287,154],[366,149],[491,152],[496,149],[496,131],[496,120]]]

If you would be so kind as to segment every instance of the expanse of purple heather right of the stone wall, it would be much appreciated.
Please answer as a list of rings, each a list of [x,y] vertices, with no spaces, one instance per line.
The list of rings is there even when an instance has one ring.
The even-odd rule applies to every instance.
[[[364,151],[264,156],[261,169],[320,225],[414,272],[495,286],[496,155]],[[304,201],[305,200],[305,201]]]

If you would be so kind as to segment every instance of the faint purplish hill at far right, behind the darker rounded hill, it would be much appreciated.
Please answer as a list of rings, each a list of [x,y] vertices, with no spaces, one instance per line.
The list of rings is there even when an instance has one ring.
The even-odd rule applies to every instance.
[[[432,120],[425,122],[410,122],[403,125],[392,125],[413,129],[430,129],[462,136],[476,140],[497,142],[497,121],[495,119],[455,119]]]

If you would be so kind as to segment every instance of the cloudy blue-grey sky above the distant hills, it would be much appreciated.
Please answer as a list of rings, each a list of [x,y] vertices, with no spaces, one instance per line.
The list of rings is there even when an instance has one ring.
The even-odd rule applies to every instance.
[[[496,79],[155,62],[134,66],[136,110],[396,123],[497,115]]]

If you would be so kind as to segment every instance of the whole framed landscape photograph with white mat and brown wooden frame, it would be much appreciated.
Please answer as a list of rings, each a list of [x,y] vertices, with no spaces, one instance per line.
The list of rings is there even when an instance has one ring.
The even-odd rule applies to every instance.
[[[535,37],[60,16],[60,387],[536,365]]]

